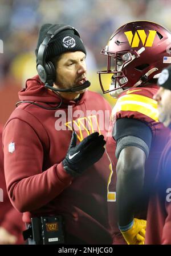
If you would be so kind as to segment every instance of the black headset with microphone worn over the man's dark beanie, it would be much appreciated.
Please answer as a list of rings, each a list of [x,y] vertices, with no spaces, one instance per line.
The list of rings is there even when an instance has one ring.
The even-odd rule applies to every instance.
[[[58,27],[58,25],[53,25],[47,31],[46,37],[43,39],[43,42],[40,44],[38,49],[36,69],[38,71],[39,78],[43,83],[45,83],[46,88],[51,89],[53,91],[75,92],[75,91],[86,89],[87,87],[90,86],[90,82],[86,81],[83,83],[83,85],[76,86],[70,89],[58,89],[53,87],[53,83],[56,78],[56,70],[55,70],[54,64],[51,61],[46,61],[47,47],[51,39],[55,35],[59,34],[64,30],[69,30],[69,29],[74,30],[74,34],[80,37],[78,31],[72,26],[64,25],[62,27]]]

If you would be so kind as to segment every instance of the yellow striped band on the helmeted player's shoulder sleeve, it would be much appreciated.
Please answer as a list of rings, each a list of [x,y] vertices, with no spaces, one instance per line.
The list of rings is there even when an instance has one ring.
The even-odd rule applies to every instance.
[[[113,107],[112,117],[119,111],[137,111],[158,122],[157,102],[142,95],[125,94],[121,96]]]

